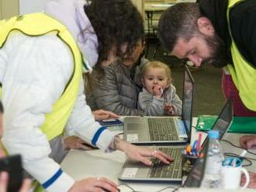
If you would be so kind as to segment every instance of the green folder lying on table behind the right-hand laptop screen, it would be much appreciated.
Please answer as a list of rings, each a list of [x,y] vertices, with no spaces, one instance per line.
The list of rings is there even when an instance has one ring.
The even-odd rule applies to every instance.
[[[217,115],[199,115],[196,130],[209,131],[216,122]],[[256,117],[234,117],[228,132],[256,133]]]

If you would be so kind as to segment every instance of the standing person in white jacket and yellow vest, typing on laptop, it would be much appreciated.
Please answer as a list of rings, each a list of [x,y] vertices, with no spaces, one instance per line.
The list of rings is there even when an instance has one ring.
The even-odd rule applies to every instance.
[[[0,22],[2,142],[9,154],[22,155],[24,169],[41,185],[37,190],[117,191],[106,178],[74,181],[61,170],[64,129],[103,151],[119,149],[147,165],[150,157],[171,162],[166,154],[124,142],[95,122],[83,94],[82,72],[108,59],[108,43],[115,45],[116,57],[131,53],[142,25],[130,0],[50,0],[44,13]]]

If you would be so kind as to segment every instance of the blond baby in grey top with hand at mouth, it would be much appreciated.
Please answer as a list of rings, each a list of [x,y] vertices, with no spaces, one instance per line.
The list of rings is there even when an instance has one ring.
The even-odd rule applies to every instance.
[[[182,101],[171,84],[171,70],[159,61],[147,63],[141,71],[144,88],[139,94],[139,108],[147,115],[181,115]]]

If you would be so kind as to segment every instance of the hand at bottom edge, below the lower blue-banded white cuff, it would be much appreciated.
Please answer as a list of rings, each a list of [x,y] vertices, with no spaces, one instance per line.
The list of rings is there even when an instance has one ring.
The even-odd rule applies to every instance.
[[[89,177],[85,180],[79,180],[75,182],[74,185],[71,187],[71,189],[68,190],[68,192],[76,192],[76,191],[118,192],[118,189],[117,189],[116,183],[113,183],[111,180],[107,180],[104,177],[97,177],[97,178]]]

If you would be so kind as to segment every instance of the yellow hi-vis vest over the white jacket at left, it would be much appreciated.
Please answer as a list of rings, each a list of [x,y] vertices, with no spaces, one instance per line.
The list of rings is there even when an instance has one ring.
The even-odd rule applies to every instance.
[[[82,75],[82,57],[80,50],[74,38],[71,36],[71,33],[69,33],[65,26],[56,19],[43,13],[20,15],[0,21],[0,49],[4,46],[9,34],[14,31],[19,31],[27,36],[43,36],[48,33],[54,33],[57,37],[61,38],[73,54],[74,71],[71,79],[65,87],[61,98],[58,98],[54,104],[52,111],[45,115],[45,122],[40,128],[42,132],[47,135],[48,140],[54,139],[63,133],[64,126],[78,98]]]

